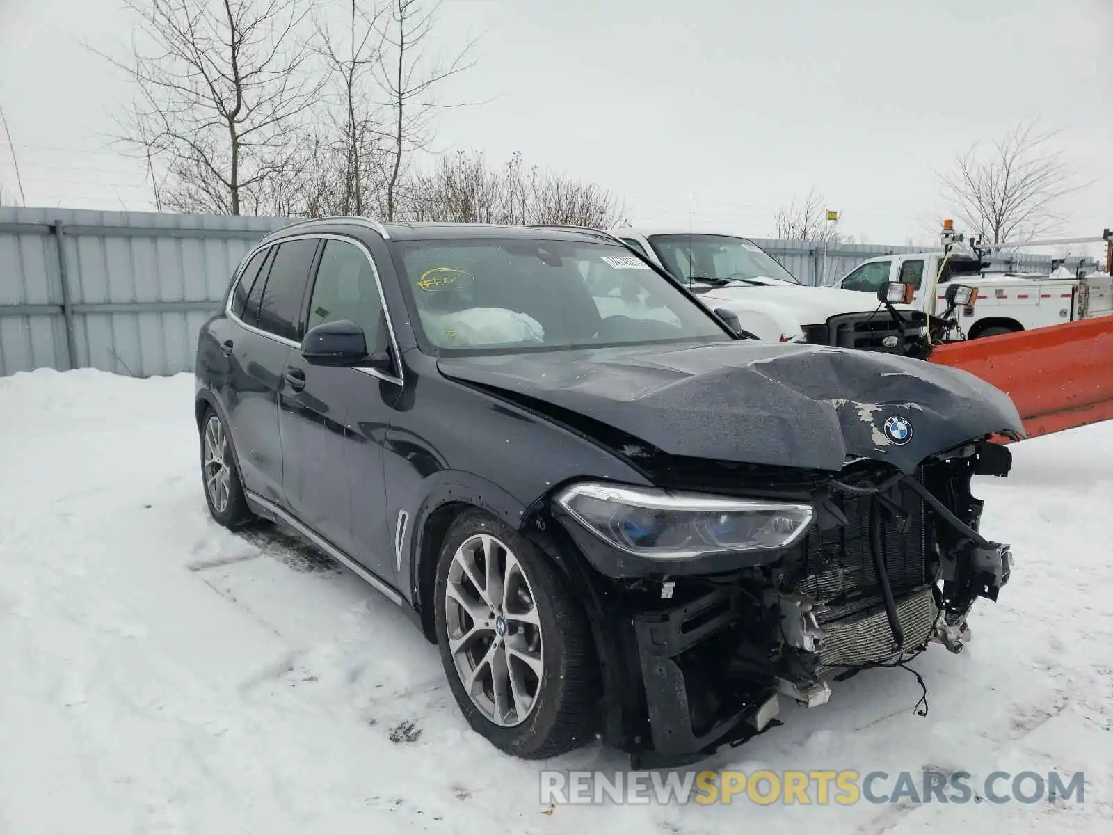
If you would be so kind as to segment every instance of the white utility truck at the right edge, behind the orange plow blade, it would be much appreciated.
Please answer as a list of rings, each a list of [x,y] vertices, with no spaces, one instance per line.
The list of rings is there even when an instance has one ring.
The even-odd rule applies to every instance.
[[[959,308],[957,320],[969,340],[1113,314],[1113,277],[1109,273],[1081,278],[1062,267],[1051,275],[991,273],[975,250],[957,245],[949,252],[870,258],[831,286],[873,296],[885,282],[912,283],[916,286],[913,304],[934,314],[946,306],[944,292],[953,281],[978,292],[973,306]]]

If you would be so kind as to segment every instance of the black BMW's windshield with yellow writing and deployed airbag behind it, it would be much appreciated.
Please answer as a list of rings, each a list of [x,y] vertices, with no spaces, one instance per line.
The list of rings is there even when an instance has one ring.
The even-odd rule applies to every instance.
[[[732,338],[707,310],[617,244],[476,238],[392,248],[426,353]]]

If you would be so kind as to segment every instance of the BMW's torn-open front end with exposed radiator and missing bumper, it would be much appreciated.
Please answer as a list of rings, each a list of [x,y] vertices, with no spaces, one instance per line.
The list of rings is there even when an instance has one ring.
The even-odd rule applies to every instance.
[[[615,578],[608,640],[629,671],[612,741],[636,767],[695,762],[776,725],[781,698],[815,707],[837,677],[933,641],[961,651],[975,600],[996,600],[1011,570],[1008,546],[978,533],[971,478],[1005,475],[1011,461],[989,441],[914,473],[859,459],[811,474],[815,513],[789,548],[730,570]]]

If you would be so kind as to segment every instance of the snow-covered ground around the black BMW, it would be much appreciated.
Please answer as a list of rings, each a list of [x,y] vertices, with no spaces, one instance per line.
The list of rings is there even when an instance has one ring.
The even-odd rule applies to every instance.
[[[1017,564],[961,656],[875,670],[715,767],[1086,774],[1085,802],[558,806],[352,574],[206,512],[193,381],[0,379],[0,833],[1113,831],[1113,423],[982,480]],[[591,746],[550,767],[623,767]],[[975,779],[976,783],[976,779]],[[961,828],[959,828],[961,827]]]

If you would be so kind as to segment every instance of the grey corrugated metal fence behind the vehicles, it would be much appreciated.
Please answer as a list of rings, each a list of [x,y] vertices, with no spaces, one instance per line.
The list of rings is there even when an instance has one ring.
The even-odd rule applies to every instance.
[[[0,207],[0,376],[93,367],[134,376],[189,371],[197,332],[247,249],[283,217]],[[805,284],[867,258],[920,249],[754,238]],[[60,257],[61,256],[61,257]],[[1007,256],[1006,256],[1007,257]],[[1051,257],[1012,256],[1046,273]]]

